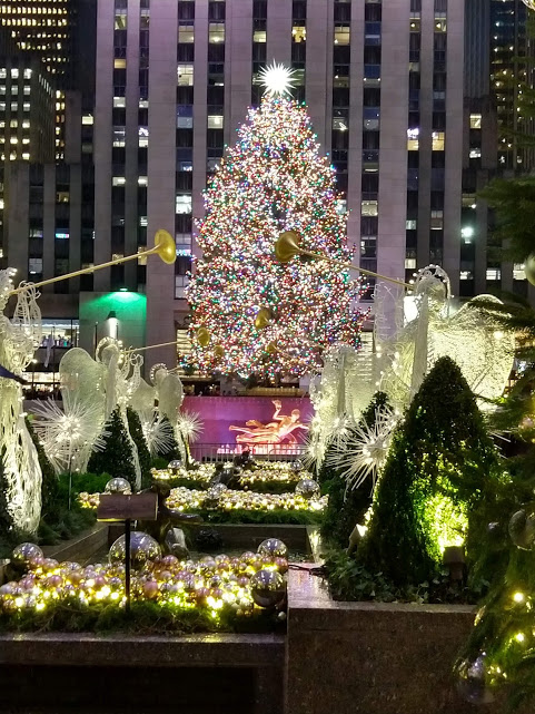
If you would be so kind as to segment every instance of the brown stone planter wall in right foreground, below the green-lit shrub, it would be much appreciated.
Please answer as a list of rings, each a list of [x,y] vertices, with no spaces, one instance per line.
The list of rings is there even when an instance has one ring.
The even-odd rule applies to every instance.
[[[288,606],[286,714],[474,711],[452,675],[473,607],[334,601],[303,570],[291,573]]]

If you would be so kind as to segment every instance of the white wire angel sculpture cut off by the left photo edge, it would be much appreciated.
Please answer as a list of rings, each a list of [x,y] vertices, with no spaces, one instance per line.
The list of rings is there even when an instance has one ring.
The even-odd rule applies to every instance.
[[[39,293],[28,286],[19,293],[10,321],[4,314],[14,271],[0,271],[0,364],[20,376],[41,341]],[[36,447],[24,422],[20,383],[0,378],[0,458],[7,510],[17,530],[33,534],[41,516],[42,473]],[[0,485],[2,487],[2,485]]]

